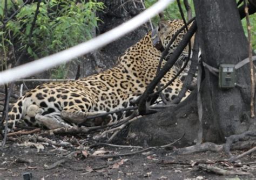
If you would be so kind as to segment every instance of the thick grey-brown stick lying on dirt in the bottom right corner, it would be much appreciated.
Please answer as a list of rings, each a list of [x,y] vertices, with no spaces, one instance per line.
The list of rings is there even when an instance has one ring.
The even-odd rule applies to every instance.
[[[225,175],[251,175],[252,176],[252,174],[249,172],[225,170],[225,169],[215,167],[213,165],[198,164],[198,167],[201,169],[206,169],[206,170],[212,171],[218,175],[224,175],[224,176]]]

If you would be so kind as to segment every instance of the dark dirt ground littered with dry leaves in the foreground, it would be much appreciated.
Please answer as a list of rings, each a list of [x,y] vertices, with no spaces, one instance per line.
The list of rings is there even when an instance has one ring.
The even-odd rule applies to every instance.
[[[38,137],[48,138],[55,145]],[[0,151],[0,179],[23,179],[26,172],[31,173],[31,179],[251,179],[256,176],[256,153],[234,164],[218,162],[227,158],[221,153],[173,155],[171,149],[151,149],[129,156],[104,158],[100,156],[141,149],[91,146],[94,143],[90,136],[49,135],[43,131],[12,136]],[[217,175],[200,169],[199,163],[252,175]]]

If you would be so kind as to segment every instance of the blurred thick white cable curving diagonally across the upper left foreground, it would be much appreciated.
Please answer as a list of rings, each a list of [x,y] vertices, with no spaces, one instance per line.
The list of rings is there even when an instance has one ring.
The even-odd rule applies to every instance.
[[[75,57],[84,55],[97,48],[103,47],[106,44],[109,44],[110,42],[122,37],[126,33],[129,33],[132,30],[136,29],[137,27],[145,23],[145,21],[156,16],[159,12],[163,11],[167,7],[167,5],[174,1],[175,0],[160,0],[159,2],[152,5],[149,9],[146,9],[145,11],[140,13],[138,16],[130,19],[126,23],[123,23],[118,27],[113,28],[112,30],[102,35],[99,35],[96,38],[83,42],[82,44],[71,47],[59,53],[52,54],[50,56],[43,57],[39,60],[32,61],[12,69],[2,71],[0,73],[0,85],[14,81],[17,78],[22,78],[36,73],[40,73],[43,70],[54,67],[64,62],[68,62],[74,59]]]

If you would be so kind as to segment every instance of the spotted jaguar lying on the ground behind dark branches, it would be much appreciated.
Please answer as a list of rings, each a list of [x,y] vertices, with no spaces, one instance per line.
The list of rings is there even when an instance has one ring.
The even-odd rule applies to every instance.
[[[158,33],[164,47],[181,26],[181,20],[159,23]],[[184,33],[173,43],[170,53]],[[187,51],[186,48],[183,55],[187,55]],[[87,116],[130,107],[131,100],[137,99],[156,75],[160,56],[161,52],[154,48],[149,32],[119,56],[117,65],[109,70],[76,81],[45,83],[26,92],[12,107],[10,122],[13,127],[21,119],[29,126],[70,127],[86,123]],[[161,80],[160,86],[169,82],[175,74],[176,70],[171,69]],[[165,97],[172,100],[182,85],[176,79],[163,91]],[[111,120],[122,116],[124,114],[116,113]]]

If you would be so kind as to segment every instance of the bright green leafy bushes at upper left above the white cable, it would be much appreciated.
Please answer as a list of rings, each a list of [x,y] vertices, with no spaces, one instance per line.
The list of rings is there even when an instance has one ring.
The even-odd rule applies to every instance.
[[[10,2],[8,0],[8,17],[23,5],[23,1],[19,0],[12,1],[15,4]],[[24,5],[8,21],[4,31],[0,32],[3,34],[5,44],[9,44],[11,41],[15,42],[18,52],[21,52],[28,44],[36,6],[37,2]],[[28,54],[37,59],[91,39],[93,28],[97,27],[100,20],[96,17],[95,12],[103,9],[104,4],[96,0],[89,2],[85,0],[42,1],[32,32],[32,43],[28,48]],[[4,1],[0,3],[0,19],[4,19]],[[60,69],[63,68],[60,67]]]

